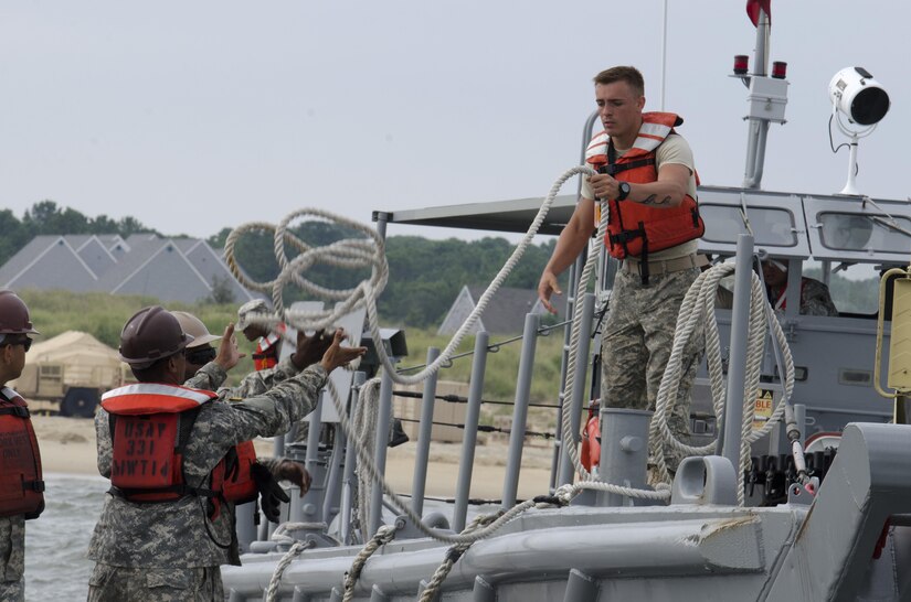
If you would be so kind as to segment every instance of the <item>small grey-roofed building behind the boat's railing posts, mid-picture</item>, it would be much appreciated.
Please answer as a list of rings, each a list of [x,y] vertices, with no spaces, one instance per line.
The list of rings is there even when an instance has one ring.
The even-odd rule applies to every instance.
[[[477,307],[485,290],[486,287],[462,287],[436,333],[454,334]],[[491,334],[521,333],[527,313],[547,313],[538,299],[538,291],[500,287],[469,334],[481,330]]]

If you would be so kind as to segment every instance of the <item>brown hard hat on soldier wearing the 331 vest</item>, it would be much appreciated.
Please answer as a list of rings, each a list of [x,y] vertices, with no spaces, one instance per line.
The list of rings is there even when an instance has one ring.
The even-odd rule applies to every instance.
[[[183,351],[193,340],[180,322],[161,305],[144,308],[127,320],[120,331],[120,359],[135,367],[150,366],[162,357]]]

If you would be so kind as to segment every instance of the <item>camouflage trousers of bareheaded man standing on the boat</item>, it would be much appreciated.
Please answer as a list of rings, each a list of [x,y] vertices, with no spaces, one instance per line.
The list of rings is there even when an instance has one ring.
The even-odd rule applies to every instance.
[[[648,286],[643,286],[639,275],[619,270],[601,343],[603,406],[655,411],[680,303],[698,276],[699,269],[690,268],[652,276]],[[689,442],[689,389],[702,350],[703,333],[698,327],[684,350],[682,380],[669,421],[671,432],[684,443]],[[665,450],[671,470],[681,460],[679,453]]]

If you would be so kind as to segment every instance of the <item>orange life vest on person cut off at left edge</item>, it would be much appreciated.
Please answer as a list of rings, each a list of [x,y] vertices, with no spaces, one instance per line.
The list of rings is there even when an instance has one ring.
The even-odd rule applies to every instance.
[[[24,514],[38,518],[44,509],[41,453],[29,418],[29,406],[18,393],[0,389],[0,516]]]

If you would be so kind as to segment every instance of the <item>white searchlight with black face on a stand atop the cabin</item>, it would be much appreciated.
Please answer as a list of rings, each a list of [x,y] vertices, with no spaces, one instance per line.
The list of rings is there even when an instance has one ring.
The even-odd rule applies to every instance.
[[[841,133],[851,139],[848,182],[838,194],[860,196],[856,182],[858,140],[870,136],[889,112],[889,95],[864,67],[845,67],[829,82],[829,98],[833,119],[838,123]]]

